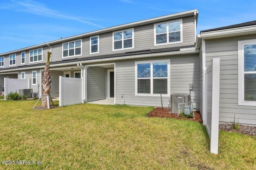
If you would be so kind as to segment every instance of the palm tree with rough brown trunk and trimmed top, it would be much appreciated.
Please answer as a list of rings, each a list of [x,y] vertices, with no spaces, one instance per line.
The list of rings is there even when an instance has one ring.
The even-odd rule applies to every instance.
[[[50,106],[50,101],[52,101],[52,98],[50,96],[51,91],[51,85],[52,85],[52,76],[50,71],[50,59],[51,59],[51,52],[47,52],[47,58],[45,59],[45,66],[44,66],[44,76],[42,80],[42,86],[43,86],[43,94],[42,94],[42,107]],[[48,96],[48,97],[47,97]]]

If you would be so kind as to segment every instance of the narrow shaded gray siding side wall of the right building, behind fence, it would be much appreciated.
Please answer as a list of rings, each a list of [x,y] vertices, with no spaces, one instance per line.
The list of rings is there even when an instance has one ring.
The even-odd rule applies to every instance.
[[[202,48],[199,52],[199,65],[198,65],[198,108],[200,113],[203,111],[203,61],[202,61]]]

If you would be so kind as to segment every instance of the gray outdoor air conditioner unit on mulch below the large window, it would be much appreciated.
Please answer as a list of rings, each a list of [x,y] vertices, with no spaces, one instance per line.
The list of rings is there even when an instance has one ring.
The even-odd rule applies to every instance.
[[[170,106],[171,113],[178,113],[178,104],[186,103],[190,101],[189,94],[171,94]],[[180,112],[184,111],[184,104],[180,105]]]

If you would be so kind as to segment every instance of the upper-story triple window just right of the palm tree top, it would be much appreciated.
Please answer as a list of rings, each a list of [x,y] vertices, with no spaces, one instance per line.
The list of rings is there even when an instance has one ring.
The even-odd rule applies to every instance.
[[[70,41],[62,44],[63,57],[72,57],[82,54],[82,40]]]

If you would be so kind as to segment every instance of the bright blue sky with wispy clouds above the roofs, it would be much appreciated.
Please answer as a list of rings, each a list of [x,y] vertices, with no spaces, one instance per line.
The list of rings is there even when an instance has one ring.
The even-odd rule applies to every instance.
[[[1,0],[0,53],[197,9],[197,32],[256,20],[255,0]]]

